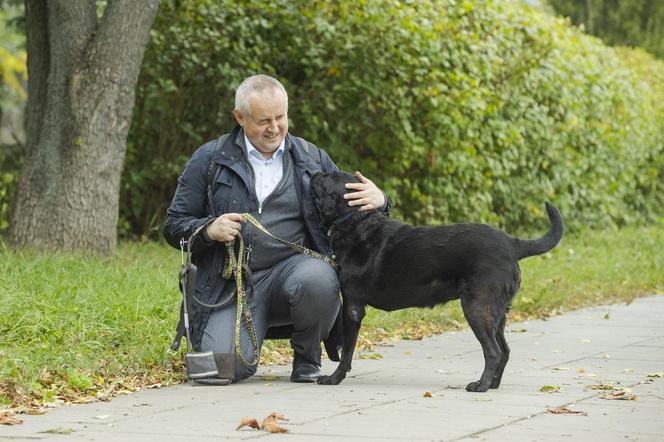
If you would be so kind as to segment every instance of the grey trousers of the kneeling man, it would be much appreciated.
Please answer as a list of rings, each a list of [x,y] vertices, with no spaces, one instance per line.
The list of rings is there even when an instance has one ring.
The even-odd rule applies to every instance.
[[[295,254],[272,268],[253,273],[255,293],[250,309],[259,348],[268,327],[293,325],[291,347],[295,355],[320,365],[320,343],[330,332],[341,307],[339,280],[329,264]],[[250,293],[250,290],[248,290]],[[234,352],[235,302],[217,309],[203,332],[201,351]],[[242,321],[240,348],[246,361],[253,358],[253,344]],[[235,382],[256,373],[256,365],[235,362]]]

